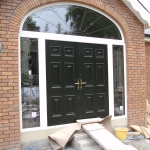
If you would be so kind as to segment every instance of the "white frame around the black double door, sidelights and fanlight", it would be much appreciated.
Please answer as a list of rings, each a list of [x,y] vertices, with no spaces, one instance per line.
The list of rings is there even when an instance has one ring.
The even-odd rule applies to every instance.
[[[53,3],[50,5],[63,5],[68,3]],[[21,103],[21,84],[19,84],[19,97],[20,97],[20,129],[21,132],[26,131],[34,131],[41,130],[53,127],[60,127],[64,125],[58,126],[47,126],[47,93],[46,93],[46,53],[45,53],[45,40],[57,40],[57,41],[68,41],[68,42],[79,42],[79,43],[92,43],[92,44],[106,44],[108,50],[108,90],[109,90],[109,115],[112,115],[112,119],[120,119],[127,118],[127,80],[126,80],[126,47],[124,42],[124,36],[121,28],[118,24],[112,20],[108,15],[103,12],[79,3],[71,3],[78,6],[87,7],[94,11],[97,11],[108,19],[110,19],[119,29],[122,40],[113,40],[113,39],[103,39],[103,38],[94,38],[94,37],[82,37],[82,36],[73,36],[73,35],[61,35],[61,34],[52,34],[52,33],[42,33],[42,32],[30,32],[30,31],[22,31],[22,26],[26,18],[33,13],[34,11],[41,9],[44,6],[38,7],[29,13],[23,18],[20,25],[20,33],[19,33],[19,83],[21,83],[21,58],[20,58],[20,38],[28,37],[28,38],[37,38],[38,39],[38,55],[39,55],[39,99],[40,99],[40,127],[35,128],[27,128],[22,129],[22,103]],[[48,6],[48,5],[46,5]],[[125,88],[125,112],[126,114],[123,116],[114,117],[114,86],[113,86],[113,45],[122,45],[124,50],[124,88]]]

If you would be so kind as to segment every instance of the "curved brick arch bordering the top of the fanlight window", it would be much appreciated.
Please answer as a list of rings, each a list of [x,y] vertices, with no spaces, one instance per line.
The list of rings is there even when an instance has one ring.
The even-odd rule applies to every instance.
[[[10,24],[9,24],[9,31],[19,32],[20,23],[22,18],[32,9],[42,6],[45,4],[49,4],[52,2],[64,2],[64,0],[24,0],[12,14]],[[130,32],[130,28],[126,22],[126,20],[109,4],[103,2],[103,0],[68,0],[66,2],[79,2],[86,5],[90,5],[95,7],[102,12],[106,13],[108,16],[113,18],[118,25],[121,27],[125,41],[131,42],[132,34]]]

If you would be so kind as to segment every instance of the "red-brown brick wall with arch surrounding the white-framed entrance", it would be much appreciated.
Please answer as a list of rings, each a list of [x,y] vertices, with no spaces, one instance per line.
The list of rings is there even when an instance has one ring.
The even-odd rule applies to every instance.
[[[22,18],[30,10],[61,0],[1,0],[0,42],[0,149],[20,149],[18,97],[18,33]],[[62,0],[64,1],[64,0]],[[67,1],[67,0],[66,0]],[[144,125],[146,63],[142,23],[121,0],[68,0],[81,2],[108,14],[121,27],[126,42],[127,103],[129,124]],[[11,83],[12,82],[12,83]]]

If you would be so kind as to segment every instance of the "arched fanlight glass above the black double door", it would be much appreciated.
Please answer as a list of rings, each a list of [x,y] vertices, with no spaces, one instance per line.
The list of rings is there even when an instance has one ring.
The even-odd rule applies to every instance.
[[[121,40],[112,21],[96,11],[76,5],[39,9],[28,16],[23,30]]]

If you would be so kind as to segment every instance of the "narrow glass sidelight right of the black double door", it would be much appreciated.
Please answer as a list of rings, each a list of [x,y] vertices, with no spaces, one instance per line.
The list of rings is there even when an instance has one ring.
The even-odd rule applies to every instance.
[[[113,46],[114,115],[125,115],[123,46]]]

